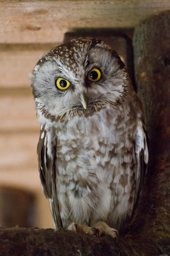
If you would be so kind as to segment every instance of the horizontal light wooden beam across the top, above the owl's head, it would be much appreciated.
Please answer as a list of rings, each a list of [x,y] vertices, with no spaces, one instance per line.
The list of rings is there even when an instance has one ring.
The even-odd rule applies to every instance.
[[[169,0],[0,1],[0,42],[63,42],[75,28],[132,28]]]

